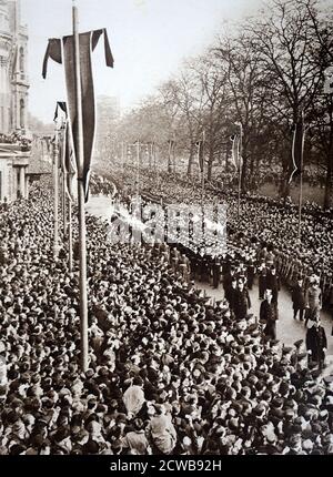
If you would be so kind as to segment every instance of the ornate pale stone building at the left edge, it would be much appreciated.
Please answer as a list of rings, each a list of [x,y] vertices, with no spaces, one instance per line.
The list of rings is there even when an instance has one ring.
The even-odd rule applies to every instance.
[[[0,0],[0,201],[28,196],[27,53],[20,0]]]

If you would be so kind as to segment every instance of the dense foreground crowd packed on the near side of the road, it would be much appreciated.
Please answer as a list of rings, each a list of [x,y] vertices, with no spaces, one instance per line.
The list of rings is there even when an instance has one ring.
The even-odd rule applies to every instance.
[[[332,454],[333,384],[172,267],[88,216],[90,365],[78,273],[53,260],[43,189],[0,213],[0,453]]]

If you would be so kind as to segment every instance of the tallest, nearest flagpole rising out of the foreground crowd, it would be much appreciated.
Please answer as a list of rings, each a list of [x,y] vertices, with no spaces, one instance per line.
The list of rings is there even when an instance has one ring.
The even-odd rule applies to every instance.
[[[80,37],[78,7],[73,1],[73,38],[74,38],[74,68],[77,93],[77,162],[78,162],[78,202],[79,202],[79,243],[80,243],[80,319],[81,319],[81,367],[88,369],[88,293],[87,293],[87,232],[85,232],[85,187],[84,187],[84,150],[83,150],[83,119],[82,119],[82,90],[80,65]]]

